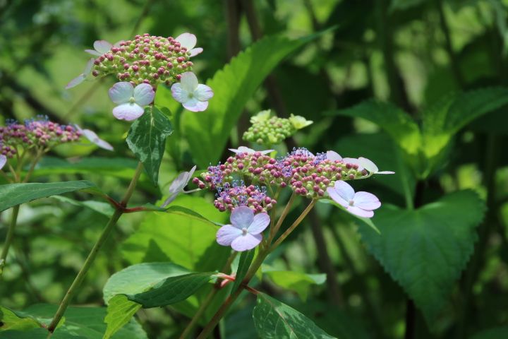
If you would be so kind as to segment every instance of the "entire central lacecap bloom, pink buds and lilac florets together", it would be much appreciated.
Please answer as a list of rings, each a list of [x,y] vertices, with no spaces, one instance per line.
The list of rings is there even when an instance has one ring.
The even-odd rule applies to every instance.
[[[228,157],[224,164],[208,167],[201,179],[193,179],[193,184],[199,189],[217,191],[215,208],[231,211],[231,225],[217,232],[217,242],[236,251],[245,251],[260,243],[261,233],[267,226],[251,230],[248,225],[277,203],[269,192],[287,187],[294,194],[313,200],[329,197],[349,213],[364,218],[373,217],[373,210],[381,206],[375,195],[363,191],[355,193],[346,183],[380,174],[377,166],[363,157],[343,158],[334,151],[314,155],[305,148],[294,149],[277,158],[268,155],[272,150],[257,151],[241,146],[231,151],[235,155]]]

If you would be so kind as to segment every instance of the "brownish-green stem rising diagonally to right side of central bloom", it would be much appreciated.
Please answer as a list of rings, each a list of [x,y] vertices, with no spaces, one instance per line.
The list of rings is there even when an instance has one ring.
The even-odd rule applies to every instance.
[[[270,249],[267,249],[265,251],[260,251],[260,254],[258,254],[258,256],[254,259],[254,262],[250,266],[250,268],[246,274],[246,277],[243,278],[243,282],[242,282],[243,286],[248,285],[248,283],[250,282],[250,279],[253,278],[253,276],[255,275],[256,272],[258,272],[258,269],[261,267],[261,264],[263,263],[263,261],[265,261],[265,258],[268,256],[268,254],[270,254],[271,251],[273,251],[277,246],[279,246],[279,244],[282,241],[284,241],[284,239],[286,239],[286,237],[288,237],[289,234],[291,234],[291,232],[293,232],[293,230],[296,228],[296,226],[298,226],[302,222],[303,218],[305,218],[306,215],[310,212],[310,210],[312,210],[312,208],[314,207],[316,202],[317,202],[317,200],[310,201],[307,208],[305,210],[303,210],[301,215],[293,222],[293,225],[291,225],[286,230],[286,232],[284,232],[281,235],[281,237],[279,237],[279,239],[277,239],[277,242],[275,242],[274,245],[270,247]],[[282,218],[282,216],[281,216],[281,218]],[[277,222],[277,224],[279,224],[279,222]],[[243,287],[243,288],[245,288],[245,287]],[[217,323],[219,323],[220,319],[222,319],[224,314],[226,314],[226,311],[229,309],[229,307],[231,307],[231,304],[233,304],[234,301],[241,294],[241,292],[243,291],[243,288],[238,288],[238,290],[236,290],[232,295],[227,297],[227,299],[222,303],[222,305],[219,308],[219,310],[217,311],[217,313],[214,314],[212,320],[210,320],[207,323],[207,326],[205,326],[205,328],[203,328],[202,332],[200,333],[200,335],[198,335],[198,338],[196,338],[196,339],[205,339],[208,337],[208,335],[210,335],[210,333],[212,333],[215,326],[217,326]]]

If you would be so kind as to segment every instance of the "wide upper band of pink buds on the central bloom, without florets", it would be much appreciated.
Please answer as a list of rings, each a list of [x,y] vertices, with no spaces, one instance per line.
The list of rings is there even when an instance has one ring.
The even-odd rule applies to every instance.
[[[236,153],[224,164],[208,167],[208,171],[201,174],[202,180],[195,178],[193,182],[200,189],[217,189],[241,179],[251,184],[289,186],[300,196],[321,198],[337,180],[360,179],[368,174],[356,163],[330,160],[325,153],[313,155],[299,148],[279,159],[260,152]]]

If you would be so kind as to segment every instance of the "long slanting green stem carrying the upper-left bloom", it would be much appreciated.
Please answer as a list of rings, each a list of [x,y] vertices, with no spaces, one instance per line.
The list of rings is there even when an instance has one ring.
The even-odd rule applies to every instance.
[[[142,171],[143,171],[143,164],[141,162],[139,162],[138,167],[135,170],[134,177],[131,180],[131,184],[129,184],[126,194],[125,194],[125,196],[123,196],[123,199],[121,201],[122,206],[126,206],[129,199],[133,195],[135,186],[138,183],[138,179],[139,179]],[[54,332],[56,326],[62,319],[63,314],[65,313],[68,305],[71,303],[76,292],[78,292],[78,288],[80,287],[81,283],[83,282],[85,275],[87,274],[88,270],[92,266],[92,263],[95,261],[97,254],[99,253],[100,249],[106,242],[106,239],[109,237],[109,234],[114,229],[116,222],[118,222],[118,220],[120,219],[122,214],[123,214],[123,210],[116,209],[115,213],[113,215],[111,215],[109,222],[107,223],[106,227],[104,227],[102,234],[100,235],[99,239],[97,239],[97,242],[95,243],[92,250],[90,251],[90,254],[88,254],[88,257],[86,258],[85,263],[83,263],[83,267],[80,269],[78,275],[76,275],[76,277],[74,278],[74,281],[73,281],[71,287],[69,287],[69,289],[67,290],[65,297],[63,297],[63,300],[61,301],[59,309],[56,311],[56,314],[54,315],[52,322],[49,324],[48,331],[50,333]],[[49,337],[50,336],[51,335],[49,335]]]

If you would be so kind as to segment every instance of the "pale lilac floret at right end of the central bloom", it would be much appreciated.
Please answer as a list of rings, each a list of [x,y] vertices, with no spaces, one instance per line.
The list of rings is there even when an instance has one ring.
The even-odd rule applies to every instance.
[[[327,192],[336,203],[346,208],[349,213],[363,218],[372,218],[373,210],[380,208],[377,196],[368,192],[356,192],[346,182],[337,181],[334,187],[328,187]]]

